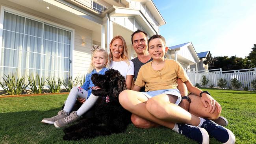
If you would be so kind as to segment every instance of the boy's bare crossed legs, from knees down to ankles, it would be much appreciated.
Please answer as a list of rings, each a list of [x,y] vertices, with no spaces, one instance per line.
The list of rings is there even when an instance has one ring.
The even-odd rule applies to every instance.
[[[136,92],[133,90],[124,90],[119,94],[119,102],[121,103],[122,107],[133,113],[135,116],[139,116],[143,119],[145,118],[151,122],[160,124],[161,126],[165,126],[170,129],[173,129],[174,127],[174,123],[172,122],[177,122],[177,120],[179,120],[181,123],[198,125],[200,122],[199,118],[191,115],[178,105],[175,105],[174,103],[176,100],[176,96],[168,96],[167,94],[160,94],[148,99],[147,96],[141,92]],[[184,114],[181,116],[180,113]],[[156,118],[156,116],[159,117]],[[193,120],[191,120],[192,116],[194,118]]]

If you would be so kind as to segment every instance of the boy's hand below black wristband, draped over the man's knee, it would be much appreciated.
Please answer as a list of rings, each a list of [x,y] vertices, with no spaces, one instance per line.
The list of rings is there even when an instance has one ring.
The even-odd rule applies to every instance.
[[[209,111],[209,113],[212,114],[212,113],[215,111],[216,107],[218,108],[218,113],[221,113],[221,109],[222,109],[222,108],[221,108],[221,105],[220,105],[218,102],[216,102],[216,101],[214,100],[214,98],[211,97],[209,94],[203,93],[203,94],[202,94],[201,101],[202,101],[204,107],[207,107],[206,102],[209,103],[209,105],[210,105],[210,111]]]

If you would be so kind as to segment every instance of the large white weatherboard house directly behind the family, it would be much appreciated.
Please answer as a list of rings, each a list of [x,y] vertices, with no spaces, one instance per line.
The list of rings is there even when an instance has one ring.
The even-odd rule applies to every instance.
[[[86,74],[93,45],[109,50],[115,35],[136,54],[130,35],[166,24],[152,0],[1,0],[0,76]],[[1,79],[2,81],[2,79]]]

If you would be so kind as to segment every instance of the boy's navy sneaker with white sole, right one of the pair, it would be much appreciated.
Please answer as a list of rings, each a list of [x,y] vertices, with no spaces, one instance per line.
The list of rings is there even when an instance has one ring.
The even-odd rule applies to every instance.
[[[232,131],[216,124],[212,120],[205,119],[201,127],[206,129],[210,136],[216,138],[223,144],[234,144],[236,142],[235,135]]]

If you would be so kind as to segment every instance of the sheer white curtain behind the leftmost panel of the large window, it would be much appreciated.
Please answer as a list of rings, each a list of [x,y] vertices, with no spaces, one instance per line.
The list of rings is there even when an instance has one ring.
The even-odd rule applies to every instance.
[[[21,72],[23,33],[25,18],[11,13],[4,13],[4,29],[2,35],[0,74],[11,75]],[[2,81],[2,79],[1,79]]]

